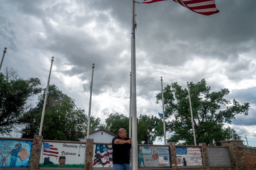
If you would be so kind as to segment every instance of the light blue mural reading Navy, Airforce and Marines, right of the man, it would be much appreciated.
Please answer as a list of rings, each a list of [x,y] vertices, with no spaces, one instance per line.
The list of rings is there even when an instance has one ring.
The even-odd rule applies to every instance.
[[[170,167],[170,149],[165,146],[139,146],[138,160],[139,167]]]

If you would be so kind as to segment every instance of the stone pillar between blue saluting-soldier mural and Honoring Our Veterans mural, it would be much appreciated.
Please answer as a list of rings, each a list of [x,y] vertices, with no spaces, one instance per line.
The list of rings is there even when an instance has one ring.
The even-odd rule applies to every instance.
[[[39,165],[43,136],[34,136],[34,142],[29,162],[29,170],[37,170]]]

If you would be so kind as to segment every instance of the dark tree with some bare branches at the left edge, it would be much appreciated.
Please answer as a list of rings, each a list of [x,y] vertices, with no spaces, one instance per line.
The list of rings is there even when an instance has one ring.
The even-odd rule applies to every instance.
[[[24,80],[8,67],[0,73],[0,134],[9,134],[19,126],[20,118],[32,107],[33,96],[41,91],[38,78]]]

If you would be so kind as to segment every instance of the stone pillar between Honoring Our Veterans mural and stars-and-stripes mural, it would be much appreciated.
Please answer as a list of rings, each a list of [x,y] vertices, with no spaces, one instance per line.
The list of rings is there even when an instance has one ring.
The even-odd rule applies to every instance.
[[[86,139],[85,170],[93,169],[93,139]]]

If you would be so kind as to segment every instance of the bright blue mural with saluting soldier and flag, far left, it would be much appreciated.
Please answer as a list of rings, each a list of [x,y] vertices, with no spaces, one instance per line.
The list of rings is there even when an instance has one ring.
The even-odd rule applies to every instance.
[[[0,167],[29,167],[33,141],[0,140]]]

